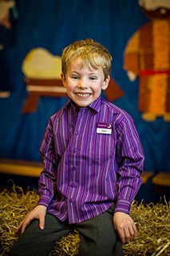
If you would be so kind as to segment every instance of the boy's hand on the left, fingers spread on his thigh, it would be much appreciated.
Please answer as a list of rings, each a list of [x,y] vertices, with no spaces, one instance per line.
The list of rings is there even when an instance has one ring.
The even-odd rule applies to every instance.
[[[24,233],[26,230],[26,226],[29,226],[30,222],[34,218],[39,219],[39,227],[41,230],[44,229],[45,225],[45,214],[46,214],[46,207],[45,206],[36,206],[34,210],[31,210],[29,214],[26,215],[26,218],[22,221],[22,223],[18,226],[16,233],[21,230],[21,234]]]

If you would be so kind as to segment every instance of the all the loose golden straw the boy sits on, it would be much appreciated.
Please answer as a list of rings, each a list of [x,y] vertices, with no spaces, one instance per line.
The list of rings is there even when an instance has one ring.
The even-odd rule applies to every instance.
[[[38,202],[36,191],[23,192],[21,187],[13,187],[12,190],[3,190],[0,193],[0,255],[5,256],[10,247],[18,239],[14,233],[26,214],[36,206]],[[138,230],[136,240],[128,242],[124,246],[125,255],[170,255],[170,202],[152,203],[133,202],[130,215]],[[80,237],[75,230],[56,243],[51,256],[77,255],[80,245]]]

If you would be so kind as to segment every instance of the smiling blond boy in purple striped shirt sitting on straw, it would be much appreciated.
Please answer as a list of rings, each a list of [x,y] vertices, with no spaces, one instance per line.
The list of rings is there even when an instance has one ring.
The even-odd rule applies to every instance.
[[[18,226],[22,235],[10,255],[48,255],[74,228],[82,256],[123,255],[121,243],[136,238],[128,214],[144,154],[132,118],[101,98],[111,60],[92,39],[63,51],[61,79],[69,101],[49,118],[40,147],[40,199]]]

